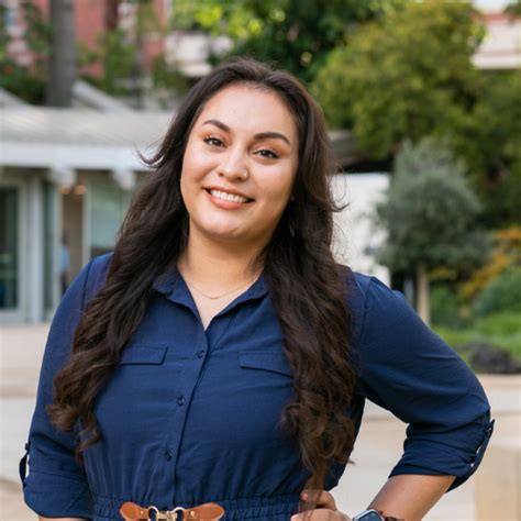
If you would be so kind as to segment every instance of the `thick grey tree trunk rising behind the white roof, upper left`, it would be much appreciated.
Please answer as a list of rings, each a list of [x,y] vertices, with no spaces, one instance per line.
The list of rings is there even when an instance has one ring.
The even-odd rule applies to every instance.
[[[48,64],[47,104],[70,107],[76,80],[74,0],[51,0],[53,42]]]

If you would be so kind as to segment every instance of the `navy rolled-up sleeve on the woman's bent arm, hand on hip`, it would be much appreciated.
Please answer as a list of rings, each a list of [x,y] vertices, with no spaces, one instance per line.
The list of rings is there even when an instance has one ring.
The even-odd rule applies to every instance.
[[[400,292],[376,278],[367,287],[358,342],[361,392],[409,424],[390,476],[456,476],[451,489],[464,483],[494,429],[474,373]]]

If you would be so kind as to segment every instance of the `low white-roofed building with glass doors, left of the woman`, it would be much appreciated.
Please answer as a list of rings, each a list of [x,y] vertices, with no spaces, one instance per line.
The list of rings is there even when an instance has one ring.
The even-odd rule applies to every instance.
[[[2,109],[0,320],[37,322],[111,250],[169,113]],[[69,265],[69,266],[68,266]]]

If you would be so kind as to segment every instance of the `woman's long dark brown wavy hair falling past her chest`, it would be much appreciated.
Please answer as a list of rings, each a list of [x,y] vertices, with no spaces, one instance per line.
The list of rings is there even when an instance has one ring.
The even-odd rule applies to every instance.
[[[54,380],[53,424],[85,426],[81,453],[101,437],[93,414],[97,395],[121,350],[142,320],[154,280],[177,264],[188,239],[180,192],[182,157],[190,130],[206,102],[236,84],[275,92],[295,119],[299,165],[291,201],[262,253],[264,274],[293,374],[293,396],[281,413],[285,432],[298,440],[308,488],[321,489],[332,459],[346,463],[353,422],[346,414],[355,374],[350,363],[351,318],[345,274],[330,244],[335,207],[329,178],[335,171],[321,109],[291,75],[252,59],[221,66],[188,93],[121,226],[104,286],[84,311],[71,355]],[[86,435],[88,434],[88,435]]]

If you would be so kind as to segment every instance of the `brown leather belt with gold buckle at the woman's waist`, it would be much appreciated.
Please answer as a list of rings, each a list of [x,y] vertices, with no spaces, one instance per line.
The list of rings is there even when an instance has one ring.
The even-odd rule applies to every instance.
[[[131,501],[124,502],[120,513],[126,521],[218,521],[224,516],[224,509],[218,503],[204,503],[193,508],[176,507],[174,510],[160,511],[156,507],[140,507]]]

